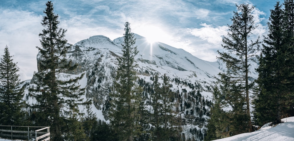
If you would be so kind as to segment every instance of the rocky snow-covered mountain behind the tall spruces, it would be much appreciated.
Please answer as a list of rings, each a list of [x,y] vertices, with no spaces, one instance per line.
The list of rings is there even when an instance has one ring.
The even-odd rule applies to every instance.
[[[150,99],[153,74],[167,74],[171,80],[171,90],[176,92],[176,99],[180,99],[180,103],[174,101],[174,108],[175,111],[178,108],[177,115],[181,116],[183,133],[186,139],[199,140],[199,133],[204,135],[207,130],[205,126],[210,114],[211,87],[215,82],[213,77],[224,71],[224,64],[201,60],[183,49],[161,42],[151,44],[137,34],[135,37],[139,51],[135,58],[138,64],[138,83],[144,87],[146,97]],[[81,82],[86,83],[83,84],[86,85],[86,97],[93,99],[93,111],[105,121],[108,120],[108,94],[118,65],[116,58],[122,54],[122,42],[123,37],[111,41],[102,35],[92,36],[74,44],[67,53],[68,59],[78,64],[78,69],[69,73],[86,73],[86,78]],[[253,62],[252,66],[257,66],[257,63]],[[251,77],[254,80],[257,74],[251,73]]]

